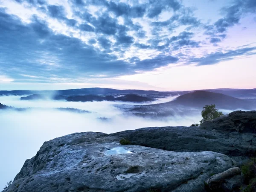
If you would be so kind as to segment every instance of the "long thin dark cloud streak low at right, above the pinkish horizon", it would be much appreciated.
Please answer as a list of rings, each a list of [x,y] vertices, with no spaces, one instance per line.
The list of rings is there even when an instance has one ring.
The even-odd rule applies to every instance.
[[[229,61],[241,55],[256,55],[256,47],[229,50],[227,52],[214,52],[201,58],[191,58],[189,63],[200,65],[212,65],[221,61]]]

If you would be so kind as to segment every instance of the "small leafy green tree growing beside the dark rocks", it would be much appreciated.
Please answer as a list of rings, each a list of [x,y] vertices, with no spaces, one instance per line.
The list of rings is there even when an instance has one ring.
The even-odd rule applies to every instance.
[[[205,105],[203,111],[201,112],[203,119],[200,121],[202,124],[205,121],[216,119],[217,117],[223,116],[224,114],[215,108],[215,105]]]

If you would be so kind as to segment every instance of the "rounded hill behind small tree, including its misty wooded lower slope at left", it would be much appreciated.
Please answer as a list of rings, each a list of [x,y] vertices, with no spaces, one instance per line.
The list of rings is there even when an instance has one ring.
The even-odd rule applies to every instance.
[[[153,105],[135,105],[133,108],[123,108],[127,114],[152,119],[169,116],[193,116],[201,113],[205,105],[215,104],[218,109],[226,110],[255,110],[254,100],[238,99],[221,93],[195,91],[177,97],[175,100]]]

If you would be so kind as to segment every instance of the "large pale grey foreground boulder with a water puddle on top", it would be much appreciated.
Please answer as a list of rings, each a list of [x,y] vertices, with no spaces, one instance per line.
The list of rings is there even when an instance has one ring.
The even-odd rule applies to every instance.
[[[120,137],[75,133],[45,142],[4,192],[202,192],[233,167],[224,154],[120,145]]]

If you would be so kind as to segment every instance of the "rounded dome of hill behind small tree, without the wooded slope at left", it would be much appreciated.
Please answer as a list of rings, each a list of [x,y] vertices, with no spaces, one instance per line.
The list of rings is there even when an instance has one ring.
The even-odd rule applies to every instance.
[[[203,108],[205,105],[215,104],[221,109],[255,109],[255,102],[244,99],[237,99],[221,93],[209,91],[195,91],[177,97],[175,100],[165,103],[165,105],[184,105],[186,107]]]

